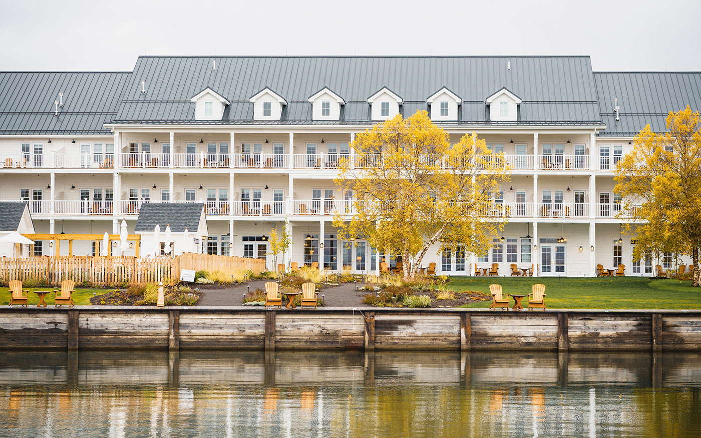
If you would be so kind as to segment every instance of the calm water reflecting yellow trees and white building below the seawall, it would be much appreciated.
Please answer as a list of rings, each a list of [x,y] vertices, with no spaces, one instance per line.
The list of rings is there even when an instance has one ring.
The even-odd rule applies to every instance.
[[[0,352],[1,437],[701,437],[701,354]]]

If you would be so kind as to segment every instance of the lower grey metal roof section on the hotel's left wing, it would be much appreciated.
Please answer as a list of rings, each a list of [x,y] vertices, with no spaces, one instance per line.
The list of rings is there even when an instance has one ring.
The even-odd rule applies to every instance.
[[[131,73],[0,71],[0,135],[109,135]],[[54,116],[54,101],[63,107]]]

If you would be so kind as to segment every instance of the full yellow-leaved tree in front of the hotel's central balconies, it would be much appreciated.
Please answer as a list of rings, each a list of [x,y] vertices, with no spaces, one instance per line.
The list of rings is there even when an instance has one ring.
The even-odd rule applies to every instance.
[[[353,205],[336,214],[334,226],[402,256],[405,277],[437,242],[439,253],[460,245],[466,253],[484,254],[503,229],[502,215],[483,213],[510,169],[474,133],[451,145],[448,133],[417,111],[355,135],[351,148],[355,159],[341,160],[335,182],[352,191]]]

